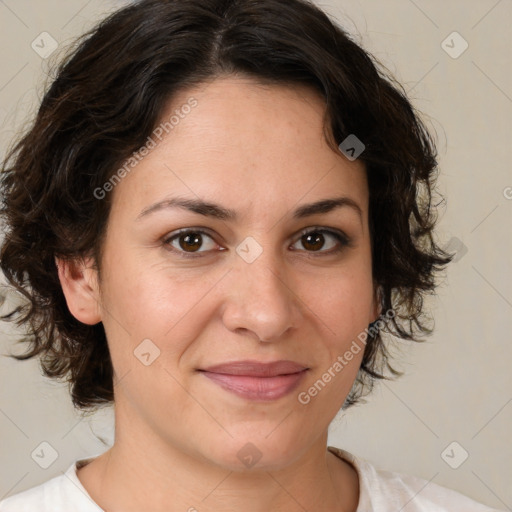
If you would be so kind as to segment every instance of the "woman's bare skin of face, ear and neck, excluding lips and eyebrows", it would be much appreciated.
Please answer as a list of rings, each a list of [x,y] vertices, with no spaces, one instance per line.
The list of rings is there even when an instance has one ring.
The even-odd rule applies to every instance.
[[[58,262],[70,311],[103,322],[115,371],[115,444],[78,477],[109,512],[355,511],[357,474],[326,443],[363,351],[307,405],[297,397],[378,318],[364,165],[327,145],[324,102],[305,87],[218,78],[174,97],[162,118],[191,96],[197,107],[115,187],[100,276],[91,260]],[[175,196],[238,218],[180,208],[140,217]],[[293,218],[339,196],[362,215],[343,206]],[[183,237],[169,242],[183,228],[210,235],[192,249],[199,257],[182,256]],[[325,232],[308,244],[306,228],[342,231],[349,245]],[[263,251],[252,263],[236,252],[247,237]],[[160,350],[149,366],[134,356],[145,339]],[[247,359],[309,370],[267,402],[197,371]],[[237,456],[247,443],[261,453],[251,467]]]

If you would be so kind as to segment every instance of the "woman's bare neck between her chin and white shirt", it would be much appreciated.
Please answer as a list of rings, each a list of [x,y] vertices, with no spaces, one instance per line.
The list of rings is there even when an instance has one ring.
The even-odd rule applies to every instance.
[[[117,416],[117,414],[116,414]],[[92,499],[106,512],[355,512],[355,469],[327,451],[327,432],[285,467],[232,471],[154,432],[118,428],[113,447],[78,470]],[[144,439],[145,442],[139,442]]]

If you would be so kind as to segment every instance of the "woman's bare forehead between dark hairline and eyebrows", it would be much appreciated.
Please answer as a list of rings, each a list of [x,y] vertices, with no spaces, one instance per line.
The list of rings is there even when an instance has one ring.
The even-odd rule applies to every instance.
[[[304,86],[231,77],[183,90],[162,112],[154,147],[114,190],[114,203],[130,196],[143,209],[185,195],[241,210],[258,202],[268,211],[338,192],[364,210],[364,165],[329,147],[324,113],[323,98]]]

